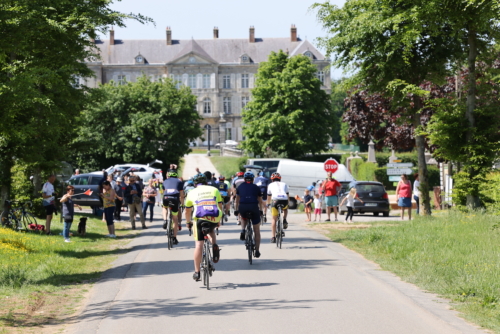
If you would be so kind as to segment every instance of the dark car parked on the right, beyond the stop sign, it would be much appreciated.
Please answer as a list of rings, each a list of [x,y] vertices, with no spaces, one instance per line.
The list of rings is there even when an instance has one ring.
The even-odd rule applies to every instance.
[[[384,217],[389,217],[389,196],[385,191],[384,185],[380,182],[373,181],[353,181],[349,183],[346,190],[342,188],[343,192],[339,197],[339,203],[347,196],[349,189],[356,188],[360,201],[354,201],[354,213],[373,212],[374,216],[378,216],[381,212]],[[347,212],[346,203],[340,207],[340,214],[343,215]]]

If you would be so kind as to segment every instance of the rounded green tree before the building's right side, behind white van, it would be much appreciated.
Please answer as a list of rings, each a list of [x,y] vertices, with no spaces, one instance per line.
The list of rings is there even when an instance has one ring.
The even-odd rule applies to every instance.
[[[270,148],[300,158],[327,147],[336,124],[316,72],[306,56],[271,53],[259,67],[252,100],[243,112],[245,149],[263,155]]]

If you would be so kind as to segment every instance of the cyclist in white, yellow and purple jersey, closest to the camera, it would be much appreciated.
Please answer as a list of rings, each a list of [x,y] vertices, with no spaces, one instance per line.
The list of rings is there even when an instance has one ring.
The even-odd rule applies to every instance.
[[[219,191],[207,185],[207,178],[204,174],[198,174],[193,177],[195,189],[189,192],[186,198],[186,223],[191,228],[191,213],[194,209],[194,274],[195,281],[200,280],[200,264],[203,251],[204,236],[201,230],[200,219],[212,222],[208,237],[213,245],[213,261],[219,262],[219,246],[215,237],[214,229],[219,227],[222,218],[222,197]]]

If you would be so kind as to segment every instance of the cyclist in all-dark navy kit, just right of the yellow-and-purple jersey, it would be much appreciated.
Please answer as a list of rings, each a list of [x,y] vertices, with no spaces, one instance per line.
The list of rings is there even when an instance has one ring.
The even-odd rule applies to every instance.
[[[254,175],[252,172],[246,172],[243,176],[244,183],[242,183],[236,189],[236,204],[234,214],[241,214],[241,234],[240,240],[245,240],[245,226],[247,224],[247,220],[245,217],[245,213],[252,213],[252,225],[255,233],[255,257],[260,257],[260,215],[262,210],[262,192],[260,188],[253,183]]]

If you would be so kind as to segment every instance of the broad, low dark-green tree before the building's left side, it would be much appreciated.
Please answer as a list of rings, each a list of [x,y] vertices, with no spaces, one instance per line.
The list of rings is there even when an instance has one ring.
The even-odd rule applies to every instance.
[[[123,162],[160,159],[168,166],[189,152],[202,135],[189,87],[177,89],[171,79],[102,85],[93,91],[82,114],[73,161],[93,169]]]

